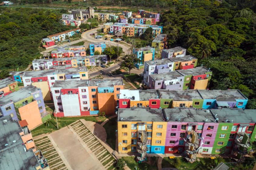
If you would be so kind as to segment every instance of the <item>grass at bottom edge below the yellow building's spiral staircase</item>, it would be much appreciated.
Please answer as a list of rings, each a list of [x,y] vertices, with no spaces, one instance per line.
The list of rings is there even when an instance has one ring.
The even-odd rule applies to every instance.
[[[135,156],[123,157],[123,159],[130,169],[137,168],[137,170],[157,170],[158,157],[149,157],[147,162],[143,162],[140,164],[136,162]]]

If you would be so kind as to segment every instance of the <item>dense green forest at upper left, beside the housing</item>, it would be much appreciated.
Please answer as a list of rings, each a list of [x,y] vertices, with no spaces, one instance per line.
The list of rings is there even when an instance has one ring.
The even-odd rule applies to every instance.
[[[59,22],[57,12],[61,11],[1,7],[0,69],[26,68],[40,56],[42,38],[69,30]]]

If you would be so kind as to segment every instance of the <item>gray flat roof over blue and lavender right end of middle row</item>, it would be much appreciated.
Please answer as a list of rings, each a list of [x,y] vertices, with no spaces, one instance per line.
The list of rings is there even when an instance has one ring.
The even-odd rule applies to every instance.
[[[217,101],[236,101],[247,99],[239,90],[198,90],[203,99],[216,99]]]

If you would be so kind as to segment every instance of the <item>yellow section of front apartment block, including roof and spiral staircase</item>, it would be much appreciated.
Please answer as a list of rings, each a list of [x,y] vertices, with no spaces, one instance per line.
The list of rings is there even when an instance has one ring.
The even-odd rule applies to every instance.
[[[139,161],[145,160],[147,153],[164,153],[167,122],[161,109],[119,109],[117,129],[119,153],[141,153]]]

